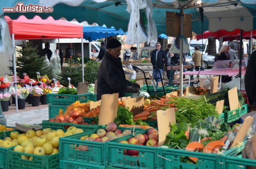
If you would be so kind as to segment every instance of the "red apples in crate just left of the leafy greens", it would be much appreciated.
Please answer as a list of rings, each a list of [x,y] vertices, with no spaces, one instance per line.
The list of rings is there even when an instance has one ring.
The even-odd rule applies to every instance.
[[[119,143],[158,147],[158,130],[151,128],[145,134],[137,134],[134,137],[130,137],[128,140],[119,141]],[[123,154],[138,156],[139,151],[135,149],[124,149]]]

